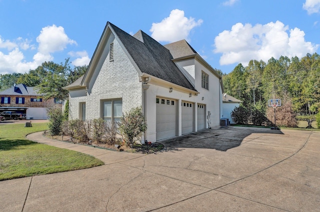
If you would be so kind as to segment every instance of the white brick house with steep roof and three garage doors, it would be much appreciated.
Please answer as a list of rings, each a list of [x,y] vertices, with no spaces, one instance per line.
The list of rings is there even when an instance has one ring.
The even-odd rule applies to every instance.
[[[185,40],[163,46],[110,22],[86,73],[64,88],[70,119],[120,120],[142,106],[142,142],[218,127],[222,115],[221,76]]]

